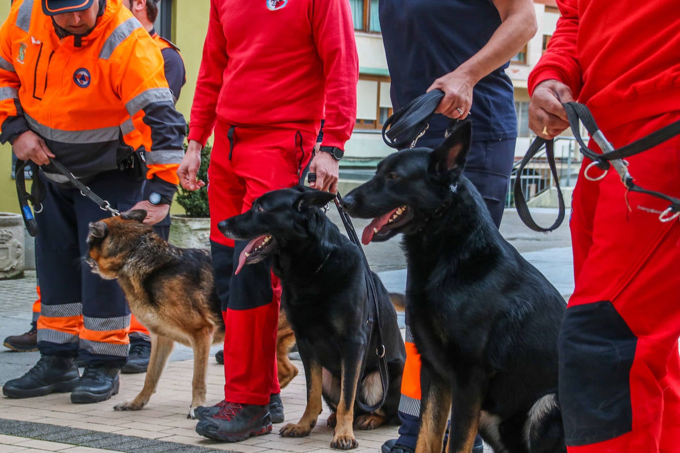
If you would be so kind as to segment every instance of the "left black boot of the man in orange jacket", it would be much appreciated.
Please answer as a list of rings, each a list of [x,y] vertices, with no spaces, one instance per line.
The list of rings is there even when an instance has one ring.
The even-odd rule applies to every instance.
[[[70,392],[78,385],[79,377],[73,359],[44,355],[27,374],[5,382],[2,393],[10,398],[31,398]]]

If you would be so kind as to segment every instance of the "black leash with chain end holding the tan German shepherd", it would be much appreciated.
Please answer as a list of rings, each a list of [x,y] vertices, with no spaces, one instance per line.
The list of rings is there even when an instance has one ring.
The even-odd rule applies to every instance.
[[[33,196],[29,194],[26,190],[26,181],[24,178],[24,167],[29,164],[29,162],[25,160],[16,160],[16,166],[15,166],[15,181],[16,181],[16,193],[19,198],[19,205],[21,207],[21,215],[24,217],[24,225],[26,225],[26,229],[28,230],[29,234],[33,237],[37,234],[37,223],[35,221],[35,218],[33,217],[33,212],[31,212],[31,207],[29,206],[28,202],[31,202],[33,204],[33,209],[35,210],[36,213],[39,213],[42,211],[42,204],[41,196]],[[78,179],[73,176],[73,173],[71,173],[65,166],[60,164],[56,159],[50,158],[50,164],[56,168],[56,170],[67,177],[67,179],[75,186],[76,189],[80,190],[80,194],[84,197],[90,198],[93,202],[97,203],[100,209],[103,211],[109,211],[111,215],[118,216],[120,215],[120,212],[118,210],[113,209],[111,207],[111,203],[107,202],[107,200],[104,200],[95,192],[92,192],[90,190],[90,187],[87,187],[84,185],[82,182],[78,181]],[[33,168],[33,180],[34,184],[40,184],[39,183],[39,177],[37,176],[37,166],[35,164],[31,164],[31,167]],[[39,206],[39,209],[35,209],[36,206]]]

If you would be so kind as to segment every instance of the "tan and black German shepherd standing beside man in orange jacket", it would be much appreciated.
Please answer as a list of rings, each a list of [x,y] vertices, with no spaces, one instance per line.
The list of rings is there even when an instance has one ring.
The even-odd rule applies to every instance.
[[[224,340],[220,300],[214,289],[210,253],[181,249],[141,223],[146,211],[126,211],[90,223],[86,262],[92,272],[109,280],[118,279],[130,310],[149,329],[151,357],[139,395],[115,410],[140,410],[156,391],[156,385],[174,342],[194,350],[192,399],[187,418],[205,404],[205,373],[210,345]],[[277,365],[281,387],[298,374],[288,360],[295,342],[284,312],[279,317]]]

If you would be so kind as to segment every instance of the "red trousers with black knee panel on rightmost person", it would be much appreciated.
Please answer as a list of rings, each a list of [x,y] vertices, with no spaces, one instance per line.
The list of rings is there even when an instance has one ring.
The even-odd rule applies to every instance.
[[[621,147],[677,120],[603,132]],[[680,196],[680,137],[627,160],[636,183]],[[586,180],[588,163],[573,193],[575,291],[559,340],[568,451],[680,452],[680,224],[661,223],[668,202],[626,194],[614,170]]]

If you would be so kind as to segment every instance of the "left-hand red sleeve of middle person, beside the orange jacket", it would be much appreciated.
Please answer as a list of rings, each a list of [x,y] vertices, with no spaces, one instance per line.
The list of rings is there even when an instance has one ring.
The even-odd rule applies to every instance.
[[[215,0],[211,0],[208,31],[203,44],[203,58],[196,81],[187,137],[189,140],[201,142],[204,146],[215,128],[217,100],[222,89],[222,75],[228,59],[226,38],[220,23],[218,6]]]

